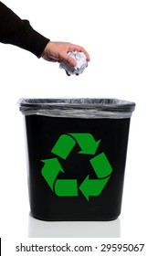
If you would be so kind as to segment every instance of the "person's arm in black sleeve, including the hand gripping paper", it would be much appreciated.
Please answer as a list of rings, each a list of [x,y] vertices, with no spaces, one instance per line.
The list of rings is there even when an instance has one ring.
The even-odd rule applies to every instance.
[[[48,61],[61,62],[66,60],[69,65],[75,66],[76,60],[68,56],[68,51],[82,51],[90,61],[88,52],[77,45],[65,42],[50,42],[47,37],[40,35],[28,20],[19,16],[0,2],[0,42],[24,48]]]

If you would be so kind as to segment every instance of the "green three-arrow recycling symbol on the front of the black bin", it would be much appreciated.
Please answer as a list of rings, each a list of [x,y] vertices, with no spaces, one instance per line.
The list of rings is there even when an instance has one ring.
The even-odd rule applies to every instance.
[[[45,165],[41,170],[52,192],[58,197],[79,197],[79,190],[89,201],[90,197],[100,196],[111,177],[112,167],[104,152],[96,155],[100,141],[96,142],[90,133],[66,133],[59,136],[51,152],[66,160],[75,144],[79,144],[81,151],[78,154],[93,155],[90,164],[97,179],[90,179],[88,175],[78,187],[77,179],[58,179],[59,172],[64,170],[58,157],[41,160]],[[95,156],[94,156],[95,155]]]

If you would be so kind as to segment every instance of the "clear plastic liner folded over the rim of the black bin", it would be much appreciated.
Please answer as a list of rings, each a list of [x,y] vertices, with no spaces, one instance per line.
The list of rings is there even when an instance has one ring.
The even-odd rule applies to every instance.
[[[134,102],[118,99],[20,99],[18,103],[25,115],[69,118],[130,118],[135,109]]]

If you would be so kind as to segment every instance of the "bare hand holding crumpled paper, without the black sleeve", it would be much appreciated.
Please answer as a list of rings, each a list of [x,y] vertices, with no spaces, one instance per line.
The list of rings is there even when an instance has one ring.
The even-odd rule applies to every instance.
[[[47,61],[59,63],[65,60],[70,66],[75,67],[77,65],[76,60],[68,56],[68,52],[74,50],[83,52],[87,57],[87,61],[90,61],[90,55],[84,48],[66,42],[51,41],[47,43],[42,53],[42,58]]]

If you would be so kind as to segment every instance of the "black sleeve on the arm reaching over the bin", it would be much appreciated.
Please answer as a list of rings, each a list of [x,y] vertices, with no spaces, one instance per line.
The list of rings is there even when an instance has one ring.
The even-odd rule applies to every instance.
[[[24,48],[40,58],[49,39],[34,30],[28,20],[22,20],[0,2],[0,42]]]

